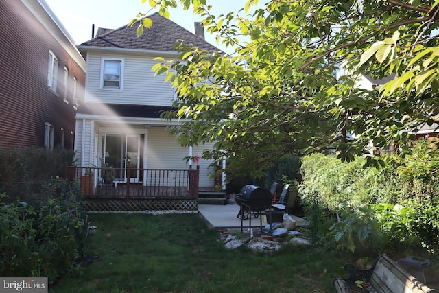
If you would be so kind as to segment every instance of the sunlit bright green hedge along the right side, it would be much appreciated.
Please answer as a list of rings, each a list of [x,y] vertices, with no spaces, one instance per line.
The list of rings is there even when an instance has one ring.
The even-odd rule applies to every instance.
[[[333,226],[333,231],[338,229],[338,236],[344,231],[344,236],[332,237],[339,247],[352,250],[367,240],[357,237],[356,241],[353,235],[364,236],[367,226],[375,227],[364,222],[365,211],[361,209],[368,209],[370,218],[379,223],[384,246],[422,245],[437,252],[439,155],[429,141],[418,141],[410,151],[401,156],[383,156],[385,165],[379,169],[364,167],[364,158],[342,162],[331,155],[305,156],[301,169],[302,204],[312,209],[317,197],[323,210],[332,215],[339,213],[341,224]],[[356,230],[340,228],[346,223]],[[322,234],[321,231],[319,235]]]

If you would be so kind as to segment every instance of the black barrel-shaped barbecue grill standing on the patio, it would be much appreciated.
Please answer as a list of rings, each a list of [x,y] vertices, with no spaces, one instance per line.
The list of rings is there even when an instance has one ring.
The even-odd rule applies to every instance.
[[[235,202],[241,207],[237,215],[241,218],[241,232],[243,231],[243,220],[250,217],[249,229],[251,234],[252,215],[255,218],[261,216],[259,220],[261,221],[262,231],[262,212],[269,209],[273,201],[270,190],[256,185],[246,185],[241,188],[239,194],[232,194],[231,196],[235,198]]]

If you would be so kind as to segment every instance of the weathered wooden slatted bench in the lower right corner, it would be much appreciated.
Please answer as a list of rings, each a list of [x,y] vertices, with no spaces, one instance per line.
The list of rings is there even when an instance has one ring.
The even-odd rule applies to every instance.
[[[344,266],[350,272],[346,279],[335,279],[337,292],[378,292],[378,293],[433,293],[387,255],[381,255],[368,270],[360,270],[350,263]]]

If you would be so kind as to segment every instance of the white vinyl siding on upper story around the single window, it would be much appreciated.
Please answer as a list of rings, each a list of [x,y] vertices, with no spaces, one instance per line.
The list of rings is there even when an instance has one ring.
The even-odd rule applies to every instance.
[[[123,60],[123,91],[106,90],[101,86],[102,60]],[[174,90],[165,74],[154,76],[152,67],[157,63],[151,56],[112,56],[88,52],[86,74],[86,102],[108,104],[137,104],[172,106]]]

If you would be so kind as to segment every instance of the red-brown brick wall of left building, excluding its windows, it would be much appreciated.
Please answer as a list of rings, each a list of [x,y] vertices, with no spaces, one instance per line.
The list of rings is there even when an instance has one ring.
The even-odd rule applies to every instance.
[[[45,122],[54,145],[71,148],[75,130],[73,76],[84,100],[85,73],[21,1],[0,0],[0,148],[43,146]],[[58,95],[47,87],[49,50],[58,58]],[[63,101],[64,67],[69,69],[69,104]]]

